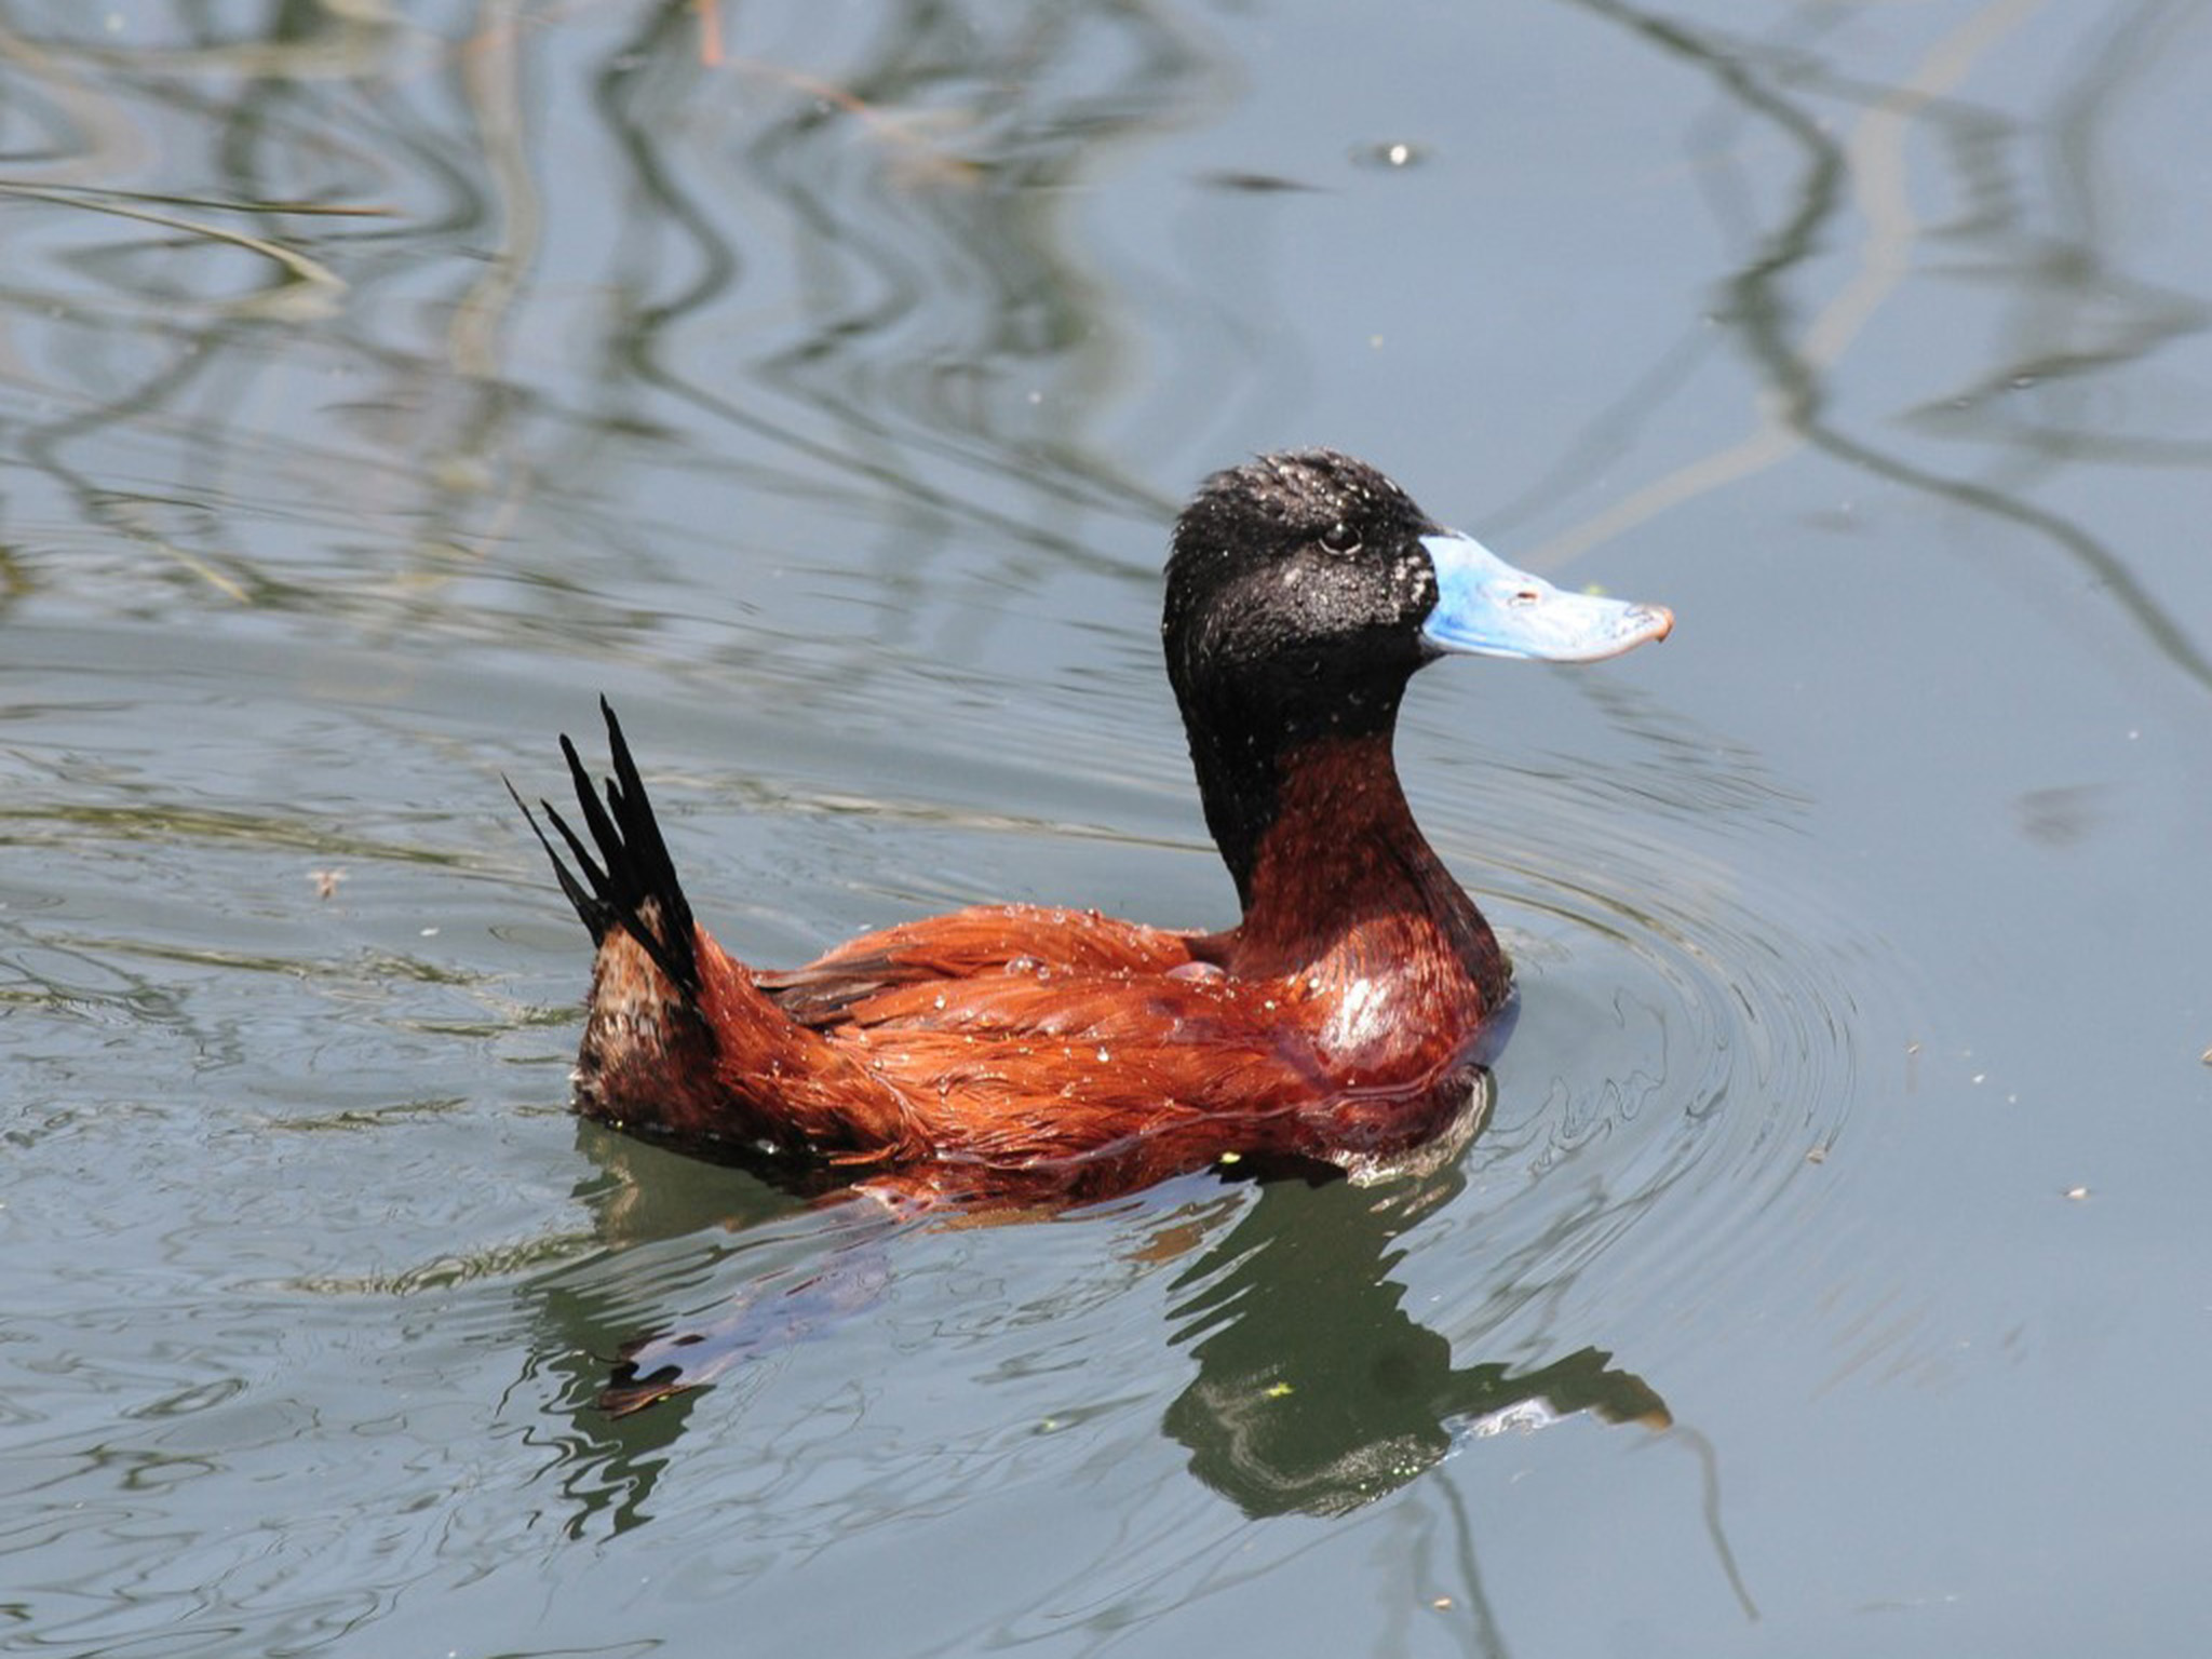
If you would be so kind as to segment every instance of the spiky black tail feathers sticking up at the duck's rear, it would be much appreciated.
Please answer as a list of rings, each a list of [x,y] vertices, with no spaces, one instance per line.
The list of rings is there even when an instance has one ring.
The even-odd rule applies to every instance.
[[[577,805],[584,810],[584,827],[591,830],[599,858],[591,856],[584,841],[549,801],[538,803],[584,872],[582,878],[568,869],[553,841],[538,827],[538,816],[515,794],[513,783],[507,785],[507,792],[515,796],[531,834],[553,860],[553,878],[575,905],[584,927],[591,929],[593,942],[604,945],[606,936],[622,927],[684,995],[697,995],[699,953],[692,945],[690,900],[684,898],[684,887],[677,883],[675,860],[668,856],[668,843],[661,841],[661,827],[653,818],[653,801],[646,799],[646,785],[637,776],[637,761],[630,759],[622,723],[604,697],[599,712],[606,714],[606,743],[615,761],[615,776],[604,781],[604,805],[575,743],[566,734],[560,741],[560,752],[568,759]]]

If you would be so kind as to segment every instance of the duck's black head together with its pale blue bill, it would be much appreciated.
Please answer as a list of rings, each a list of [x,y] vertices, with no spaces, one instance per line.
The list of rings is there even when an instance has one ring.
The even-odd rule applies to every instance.
[[[1367,462],[1301,449],[1214,473],[1183,509],[1161,637],[1206,821],[1243,891],[1285,757],[1332,737],[1387,741],[1422,664],[1584,661],[1670,626],[1657,606],[1559,593]]]

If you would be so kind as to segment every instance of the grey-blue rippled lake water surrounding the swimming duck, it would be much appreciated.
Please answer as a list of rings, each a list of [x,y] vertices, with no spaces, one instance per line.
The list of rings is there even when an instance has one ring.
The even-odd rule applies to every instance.
[[[2208,106],[2179,0],[0,7],[0,1646],[2201,1648]],[[568,1115],[599,692],[745,958],[1234,920],[1157,573],[1307,442],[1681,617],[1413,690],[1458,1159]]]

